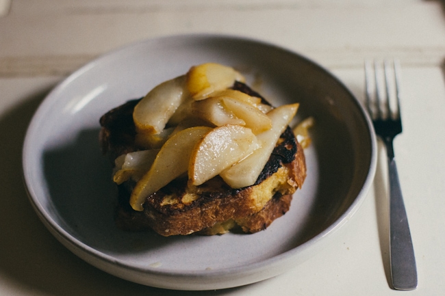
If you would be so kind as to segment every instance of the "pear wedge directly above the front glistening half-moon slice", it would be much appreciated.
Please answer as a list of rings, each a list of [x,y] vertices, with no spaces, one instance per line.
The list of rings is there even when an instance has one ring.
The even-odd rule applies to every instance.
[[[223,105],[227,110],[235,114],[237,118],[246,122],[246,127],[251,129],[255,135],[267,131],[272,127],[270,118],[249,103],[244,103],[236,98],[223,97]]]

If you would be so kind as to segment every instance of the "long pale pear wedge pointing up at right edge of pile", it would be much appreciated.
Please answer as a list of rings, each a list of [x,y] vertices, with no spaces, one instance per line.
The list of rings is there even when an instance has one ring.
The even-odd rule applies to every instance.
[[[281,133],[286,129],[298,109],[298,103],[283,105],[272,109],[267,115],[272,121],[272,128],[257,135],[260,148],[248,157],[220,172],[221,178],[232,188],[242,188],[255,184],[266,165]]]

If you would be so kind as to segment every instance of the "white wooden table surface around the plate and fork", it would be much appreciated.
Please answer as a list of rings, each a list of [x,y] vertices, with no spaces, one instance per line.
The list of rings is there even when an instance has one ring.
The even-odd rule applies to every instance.
[[[329,68],[363,100],[364,59],[398,57],[404,132],[399,175],[418,288],[390,287],[386,161],[357,214],[316,256],[222,291],[167,291],[120,280],[71,254],[40,223],[21,178],[32,114],[64,77],[130,42],[225,33],[273,42]],[[0,0],[0,295],[442,295],[445,291],[445,2],[439,0]]]

